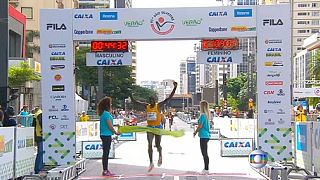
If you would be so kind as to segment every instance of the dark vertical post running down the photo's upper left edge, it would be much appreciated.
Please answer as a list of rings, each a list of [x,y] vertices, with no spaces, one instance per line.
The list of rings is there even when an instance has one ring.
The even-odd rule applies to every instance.
[[[8,101],[8,63],[9,63],[9,1],[0,1],[0,104],[3,109]]]

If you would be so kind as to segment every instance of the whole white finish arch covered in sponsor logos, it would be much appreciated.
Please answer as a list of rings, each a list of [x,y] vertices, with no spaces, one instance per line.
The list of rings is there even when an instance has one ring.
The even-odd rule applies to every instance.
[[[259,148],[272,161],[291,159],[290,12],[289,4],[41,10],[44,163],[76,160],[74,41],[230,37],[257,37]]]

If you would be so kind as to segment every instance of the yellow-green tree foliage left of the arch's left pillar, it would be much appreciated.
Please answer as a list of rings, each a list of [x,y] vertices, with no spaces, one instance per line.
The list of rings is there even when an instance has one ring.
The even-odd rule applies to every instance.
[[[9,86],[24,86],[28,81],[40,81],[41,76],[30,68],[27,62],[21,62],[20,66],[12,66],[9,69]]]

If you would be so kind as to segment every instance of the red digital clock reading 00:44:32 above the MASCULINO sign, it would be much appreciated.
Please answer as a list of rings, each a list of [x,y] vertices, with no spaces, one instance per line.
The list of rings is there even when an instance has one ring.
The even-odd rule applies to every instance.
[[[128,41],[91,41],[91,52],[128,52]]]

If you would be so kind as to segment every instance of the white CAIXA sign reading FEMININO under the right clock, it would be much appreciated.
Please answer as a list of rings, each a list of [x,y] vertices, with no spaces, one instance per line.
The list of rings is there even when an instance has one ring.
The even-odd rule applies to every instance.
[[[219,63],[241,63],[241,50],[210,50],[198,51],[197,63],[199,64],[219,64]]]

